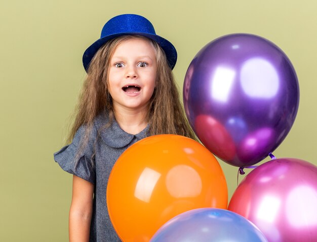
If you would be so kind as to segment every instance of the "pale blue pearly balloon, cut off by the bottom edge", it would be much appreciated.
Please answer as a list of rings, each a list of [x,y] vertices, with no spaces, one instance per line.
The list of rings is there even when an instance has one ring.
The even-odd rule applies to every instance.
[[[165,223],[150,242],[268,242],[263,233],[239,214],[223,209],[195,209]]]

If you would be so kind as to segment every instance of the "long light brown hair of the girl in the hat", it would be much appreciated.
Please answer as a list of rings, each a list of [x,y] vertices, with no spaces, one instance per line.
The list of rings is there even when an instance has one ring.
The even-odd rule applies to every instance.
[[[147,40],[156,52],[155,89],[149,100],[146,119],[149,124],[147,135],[179,134],[196,140],[192,129],[185,117],[179,99],[178,88],[168,65],[165,52],[154,41],[142,36],[121,36],[106,42],[93,57],[85,79],[77,107],[74,112],[74,122],[67,142],[70,143],[82,125],[86,125],[84,146],[87,145],[94,119],[106,111],[109,115],[108,126],[114,119],[112,99],[108,90],[109,62],[115,48],[130,39],[142,38]]]

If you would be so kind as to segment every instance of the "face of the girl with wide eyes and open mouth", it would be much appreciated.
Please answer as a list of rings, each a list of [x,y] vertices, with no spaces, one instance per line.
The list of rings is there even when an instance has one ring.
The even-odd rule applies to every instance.
[[[119,44],[110,59],[108,76],[114,111],[146,108],[155,78],[155,50],[148,41],[140,38]]]

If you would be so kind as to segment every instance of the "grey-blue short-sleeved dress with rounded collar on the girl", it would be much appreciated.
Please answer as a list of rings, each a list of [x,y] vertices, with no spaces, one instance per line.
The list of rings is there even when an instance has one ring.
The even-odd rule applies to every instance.
[[[104,114],[96,117],[89,142],[80,154],[77,155],[85,133],[84,126],[77,130],[70,145],[54,153],[54,159],[62,169],[95,185],[90,242],[121,241],[108,214],[106,203],[108,178],[118,157],[129,146],[146,137],[148,130],[147,126],[134,135],[125,132],[115,120],[108,128],[104,128],[107,122],[108,118]]]

